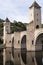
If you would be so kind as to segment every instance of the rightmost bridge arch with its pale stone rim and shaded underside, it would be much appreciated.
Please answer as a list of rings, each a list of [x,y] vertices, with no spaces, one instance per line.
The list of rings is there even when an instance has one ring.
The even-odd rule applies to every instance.
[[[34,32],[35,39],[34,39],[34,46],[35,50],[43,50],[43,28],[37,29]]]

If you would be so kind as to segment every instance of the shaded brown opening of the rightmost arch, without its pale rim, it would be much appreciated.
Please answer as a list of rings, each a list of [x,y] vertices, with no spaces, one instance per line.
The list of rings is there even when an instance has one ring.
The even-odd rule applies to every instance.
[[[43,33],[39,34],[35,41],[35,49],[43,50]]]

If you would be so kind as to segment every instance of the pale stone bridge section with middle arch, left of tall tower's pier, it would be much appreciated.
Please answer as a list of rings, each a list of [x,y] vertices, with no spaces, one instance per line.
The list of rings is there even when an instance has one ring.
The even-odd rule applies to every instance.
[[[26,44],[26,31],[14,32],[14,34],[12,35],[12,40],[13,38],[14,38],[14,48],[21,48],[21,46],[23,48],[26,46],[25,45]]]

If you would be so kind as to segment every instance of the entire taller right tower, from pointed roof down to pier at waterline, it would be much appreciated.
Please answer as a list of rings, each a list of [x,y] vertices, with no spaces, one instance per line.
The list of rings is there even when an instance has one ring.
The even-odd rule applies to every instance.
[[[27,50],[35,50],[35,30],[41,28],[41,7],[34,1],[29,7],[29,20],[30,23],[27,25]]]

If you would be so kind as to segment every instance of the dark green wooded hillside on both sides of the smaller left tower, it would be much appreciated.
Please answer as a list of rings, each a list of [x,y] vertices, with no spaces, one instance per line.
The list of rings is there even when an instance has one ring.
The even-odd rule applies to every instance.
[[[0,36],[3,35],[3,22],[4,20],[0,19]],[[26,23],[22,23],[22,22],[17,22],[14,20],[14,22],[10,22],[11,23],[11,33],[13,33],[14,31],[16,32],[20,32],[20,31],[24,31],[26,30]]]

